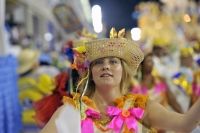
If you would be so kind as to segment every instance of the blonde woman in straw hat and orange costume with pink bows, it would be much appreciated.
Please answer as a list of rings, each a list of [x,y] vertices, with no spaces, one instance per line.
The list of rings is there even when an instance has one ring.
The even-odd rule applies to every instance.
[[[90,41],[85,45],[90,62],[81,81],[81,93],[63,97],[42,129],[42,133],[135,133],[140,124],[180,132],[191,131],[200,120],[200,99],[185,114],[166,110],[145,95],[129,94],[132,77],[143,60],[134,42],[123,38],[124,30],[111,30],[110,39]],[[83,87],[81,87],[83,86]],[[140,123],[140,124],[139,124]]]

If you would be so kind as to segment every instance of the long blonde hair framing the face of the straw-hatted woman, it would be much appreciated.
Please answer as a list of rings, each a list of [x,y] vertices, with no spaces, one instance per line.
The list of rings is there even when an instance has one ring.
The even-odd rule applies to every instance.
[[[122,65],[122,79],[121,79],[121,83],[120,83],[120,92],[122,93],[122,95],[128,93],[131,89],[131,87],[133,86],[133,72],[131,71],[131,69],[129,68],[129,66],[127,65],[127,63],[121,59],[121,65]],[[88,97],[92,97],[94,95],[95,92],[95,83],[92,80],[92,72],[91,72],[92,67],[89,68],[89,76],[87,78],[85,78],[85,80],[81,80],[81,83],[79,83],[78,89],[80,90],[80,92],[85,92],[85,95]],[[87,88],[85,88],[87,84]],[[87,90],[83,90],[83,88],[87,89]]]

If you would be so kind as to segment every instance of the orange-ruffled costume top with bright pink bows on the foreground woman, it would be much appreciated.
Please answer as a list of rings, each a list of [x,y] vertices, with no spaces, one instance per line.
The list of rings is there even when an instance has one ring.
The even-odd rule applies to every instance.
[[[86,96],[82,102],[79,94],[63,97],[64,104],[71,104],[81,112],[82,133],[144,133],[142,118],[147,100],[145,95],[128,94],[117,98],[113,106],[107,107],[106,113],[101,113]]]

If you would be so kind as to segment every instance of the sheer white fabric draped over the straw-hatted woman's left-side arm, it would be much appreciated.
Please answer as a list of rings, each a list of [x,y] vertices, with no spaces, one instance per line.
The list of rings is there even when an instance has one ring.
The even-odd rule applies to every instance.
[[[64,105],[55,124],[57,133],[81,133],[80,113],[71,105]]]

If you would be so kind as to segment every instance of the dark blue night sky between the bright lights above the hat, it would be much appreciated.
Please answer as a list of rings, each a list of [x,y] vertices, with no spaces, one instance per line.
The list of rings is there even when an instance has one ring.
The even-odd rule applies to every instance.
[[[135,5],[142,1],[149,0],[90,0],[90,4],[91,6],[95,4],[101,6],[103,22],[107,29],[115,27],[119,30],[137,26],[137,19],[132,17],[132,13]]]

